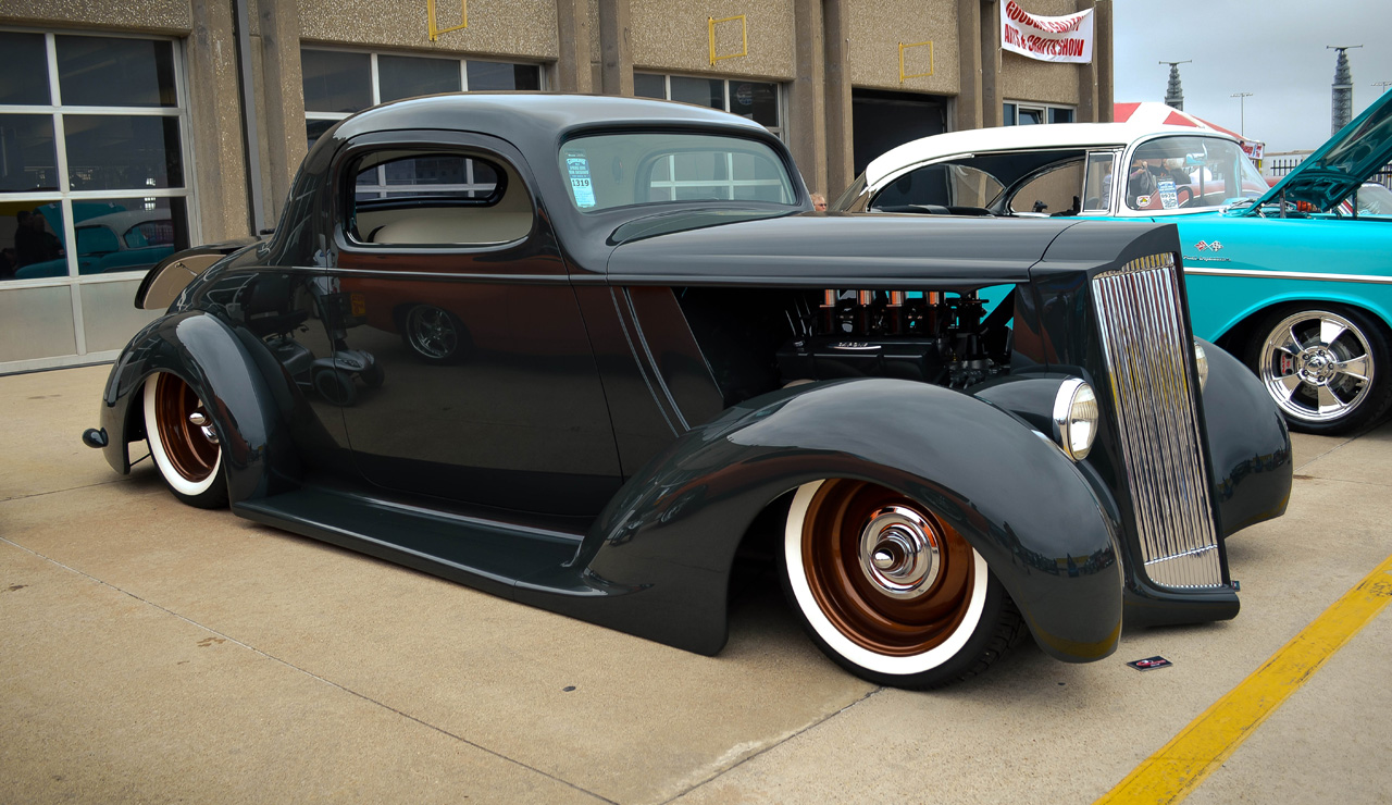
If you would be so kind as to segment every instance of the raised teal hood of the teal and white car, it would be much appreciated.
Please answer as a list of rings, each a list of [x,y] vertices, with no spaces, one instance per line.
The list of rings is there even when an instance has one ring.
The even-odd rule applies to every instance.
[[[1306,202],[1317,210],[1334,210],[1359,191],[1359,185],[1392,159],[1392,92],[1385,92],[1368,109],[1339,130],[1328,142],[1286,174],[1247,214],[1270,214],[1276,199],[1283,210]],[[1375,191],[1374,191],[1375,192]],[[1359,191],[1363,195],[1363,191]],[[1386,214],[1378,213],[1378,214]]]

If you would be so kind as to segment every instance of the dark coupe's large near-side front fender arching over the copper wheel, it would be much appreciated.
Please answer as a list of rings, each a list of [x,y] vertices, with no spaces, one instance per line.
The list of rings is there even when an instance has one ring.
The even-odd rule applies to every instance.
[[[729,568],[746,528],[780,496],[823,478],[881,483],[948,519],[1048,653],[1082,662],[1115,649],[1118,524],[1077,468],[1011,414],[889,379],[766,394],[678,439],[629,479],[576,556],[592,584],[642,595],[618,596],[633,600],[607,616],[580,617],[720,650]]]

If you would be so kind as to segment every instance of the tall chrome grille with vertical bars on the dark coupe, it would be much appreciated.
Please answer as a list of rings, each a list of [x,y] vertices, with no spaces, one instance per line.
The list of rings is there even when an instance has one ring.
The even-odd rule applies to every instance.
[[[1218,586],[1222,567],[1182,304],[1169,253],[1093,279],[1146,575],[1166,586]]]

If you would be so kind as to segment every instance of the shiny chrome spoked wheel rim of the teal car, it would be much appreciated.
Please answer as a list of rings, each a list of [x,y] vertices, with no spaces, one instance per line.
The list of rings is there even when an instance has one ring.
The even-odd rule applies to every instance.
[[[1373,370],[1363,333],[1325,311],[1286,318],[1261,348],[1261,380],[1276,405],[1311,422],[1338,419],[1363,402]]]

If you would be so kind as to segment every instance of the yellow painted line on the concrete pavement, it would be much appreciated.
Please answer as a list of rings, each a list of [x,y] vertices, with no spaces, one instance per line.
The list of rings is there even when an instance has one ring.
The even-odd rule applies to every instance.
[[[1392,602],[1392,556],[1096,805],[1179,802]]]

